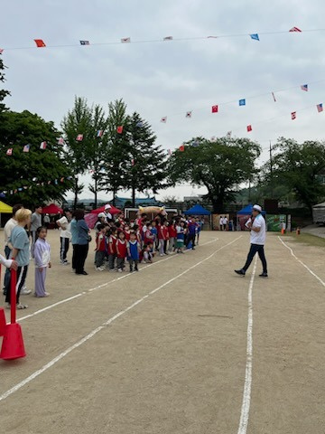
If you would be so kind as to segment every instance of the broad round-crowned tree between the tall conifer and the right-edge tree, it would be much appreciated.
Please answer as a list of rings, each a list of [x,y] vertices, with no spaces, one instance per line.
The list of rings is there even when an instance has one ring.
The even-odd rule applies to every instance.
[[[260,146],[247,138],[219,137],[211,142],[198,137],[190,140],[184,151],[177,150],[171,156],[169,177],[172,184],[187,181],[204,185],[213,212],[222,212],[238,185],[255,175],[260,152]]]

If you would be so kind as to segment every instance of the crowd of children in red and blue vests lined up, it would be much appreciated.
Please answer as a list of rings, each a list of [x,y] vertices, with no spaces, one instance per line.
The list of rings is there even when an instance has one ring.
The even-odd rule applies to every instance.
[[[183,253],[185,247],[194,250],[201,226],[200,219],[194,217],[186,220],[176,215],[168,220],[158,214],[150,221],[145,213],[135,222],[125,219],[123,213],[118,214],[115,222],[107,222],[106,214],[100,212],[95,225],[95,269],[122,272],[126,259],[133,272],[138,271],[139,262],[152,263],[155,252],[164,256]]]

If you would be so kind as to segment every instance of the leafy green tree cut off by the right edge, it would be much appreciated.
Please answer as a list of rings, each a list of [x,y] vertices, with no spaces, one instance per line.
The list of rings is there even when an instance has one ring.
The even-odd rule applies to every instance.
[[[298,144],[290,138],[280,137],[273,151],[274,183],[292,191],[311,211],[312,205],[325,197],[325,185],[320,180],[325,170],[325,143],[305,141]]]

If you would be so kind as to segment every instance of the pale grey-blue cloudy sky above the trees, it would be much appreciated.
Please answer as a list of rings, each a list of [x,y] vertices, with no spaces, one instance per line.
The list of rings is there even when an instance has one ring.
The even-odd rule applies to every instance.
[[[262,165],[270,140],[323,139],[325,112],[318,113],[316,105],[325,108],[324,13],[322,0],[5,0],[0,48],[8,68],[5,89],[12,94],[5,102],[60,127],[75,96],[105,109],[123,98],[129,113],[137,111],[152,125],[166,150],[191,137],[232,131],[262,146]],[[293,26],[302,33],[289,33]],[[283,33],[263,34],[273,32]],[[231,36],[240,33],[247,34]],[[259,33],[260,41],[250,33]],[[225,37],[206,38],[211,35]],[[163,42],[165,36],[185,40]],[[119,43],[125,37],[132,42]],[[37,49],[33,39],[75,46]],[[160,42],[135,43],[153,40]],[[308,92],[300,90],[302,84]],[[246,106],[239,107],[238,99],[246,99]],[[218,113],[211,113],[212,105]],[[191,118],[185,118],[187,111]],[[83,182],[81,197],[89,198],[89,174]],[[187,184],[156,197],[197,193],[206,192]]]

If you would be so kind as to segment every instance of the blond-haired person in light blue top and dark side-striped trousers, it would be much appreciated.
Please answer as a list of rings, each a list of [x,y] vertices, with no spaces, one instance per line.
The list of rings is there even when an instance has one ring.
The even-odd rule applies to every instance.
[[[17,309],[26,309],[28,306],[21,305],[19,302],[19,297],[23,285],[26,280],[27,270],[30,261],[30,244],[27,232],[25,231],[25,226],[29,227],[31,224],[31,210],[25,210],[24,208],[18,210],[15,213],[14,219],[17,221],[17,225],[14,226],[13,231],[10,235],[10,243],[13,246],[13,250],[11,252],[12,259],[15,259],[18,263],[17,269],[17,283],[16,283],[16,307]],[[7,307],[10,307],[10,281],[11,278],[8,278],[6,283],[6,296],[5,301],[8,304]]]

